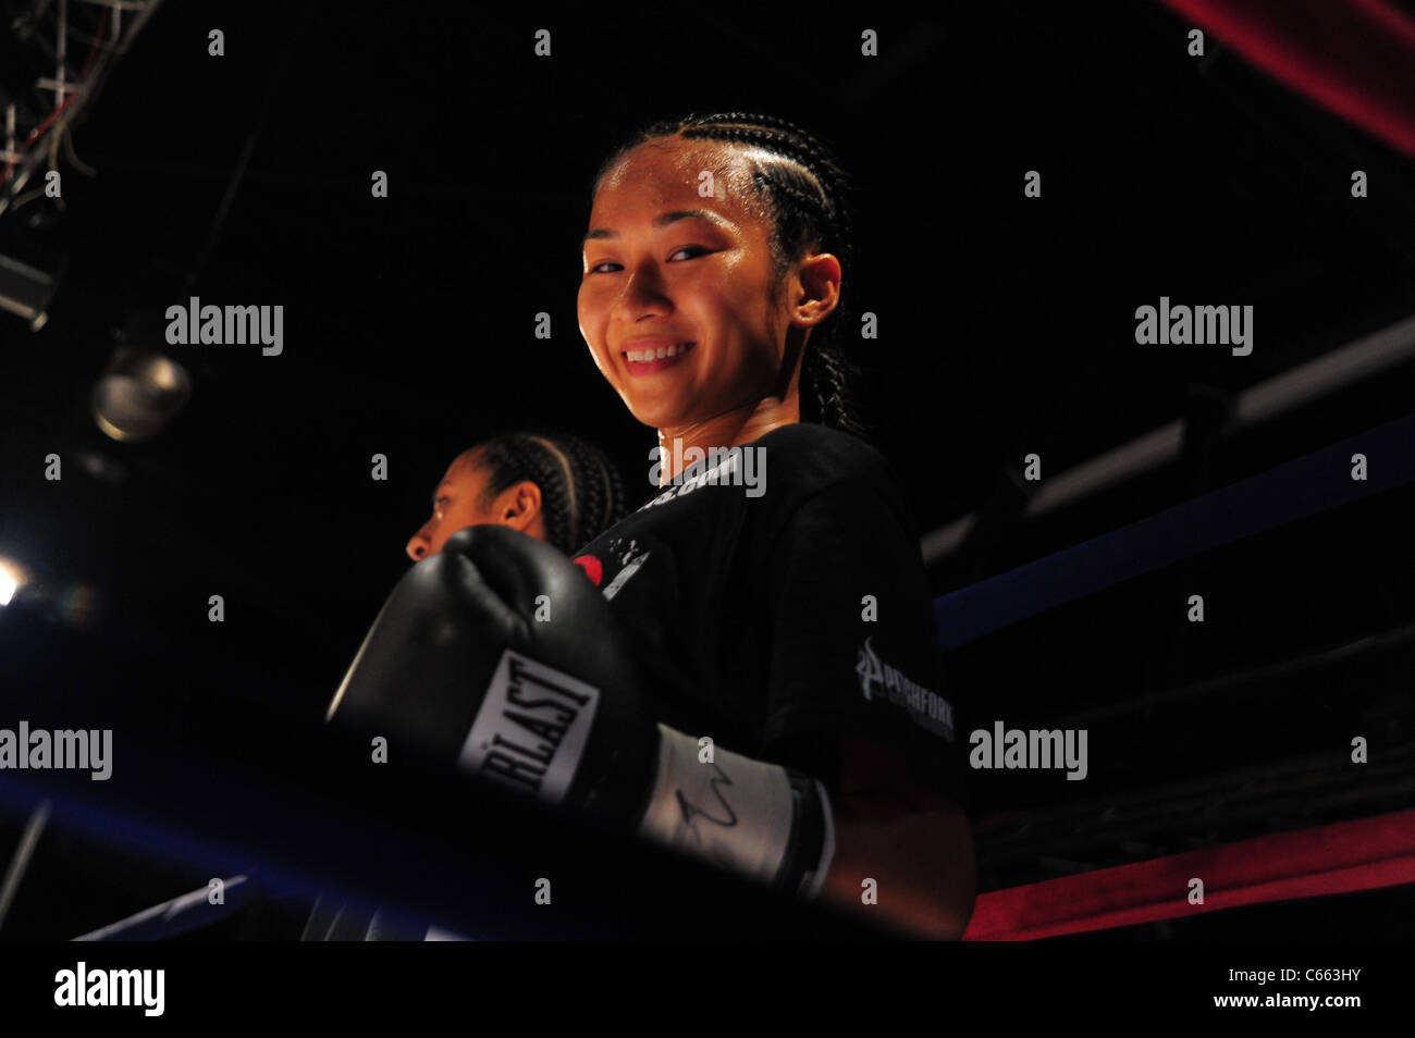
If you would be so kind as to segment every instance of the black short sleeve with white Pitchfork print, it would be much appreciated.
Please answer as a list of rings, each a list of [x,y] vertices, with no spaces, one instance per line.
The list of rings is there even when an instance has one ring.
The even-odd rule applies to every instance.
[[[918,542],[874,481],[816,492],[771,540],[771,649],[761,755],[839,788],[843,750],[869,734],[911,779],[966,807]]]

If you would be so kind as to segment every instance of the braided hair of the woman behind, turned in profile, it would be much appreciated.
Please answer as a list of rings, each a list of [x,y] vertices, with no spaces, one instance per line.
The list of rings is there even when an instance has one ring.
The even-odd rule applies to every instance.
[[[600,536],[628,512],[624,484],[599,447],[563,433],[501,433],[474,448],[487,472],[481,508],[529,479],[541,488],[546,540],[566,554]]]

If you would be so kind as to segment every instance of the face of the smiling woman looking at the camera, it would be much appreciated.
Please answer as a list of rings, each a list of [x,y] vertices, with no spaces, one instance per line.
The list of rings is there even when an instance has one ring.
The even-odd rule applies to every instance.
[[[594,197],[580,334],[647,426],[703,421],[780,385],[787,307],[773,300],[771,228],[744,197],[746,170],[732,146],[649,141]]]

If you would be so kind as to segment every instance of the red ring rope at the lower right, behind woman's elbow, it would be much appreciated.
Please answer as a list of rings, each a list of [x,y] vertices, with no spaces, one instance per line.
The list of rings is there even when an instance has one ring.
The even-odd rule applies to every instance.
[[[1204,882],[1190,904],[1190,880]],[[1037,940],[1415,882],[1415,810],[979,894],[964,940]]]

